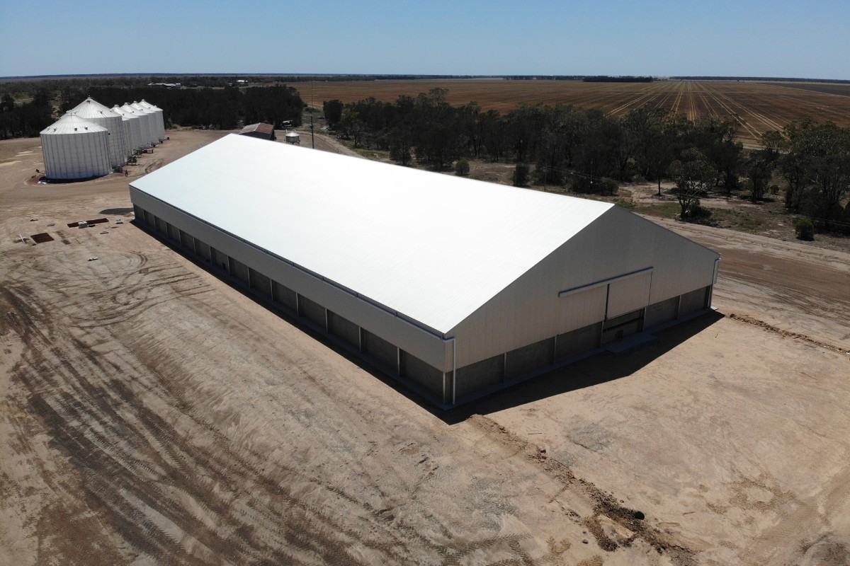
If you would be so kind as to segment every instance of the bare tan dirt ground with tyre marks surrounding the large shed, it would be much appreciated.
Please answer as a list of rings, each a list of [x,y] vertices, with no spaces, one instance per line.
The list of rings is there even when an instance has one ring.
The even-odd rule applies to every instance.
[[[0,142],[0,563],[850,564],[846,253],[660,221],[717,313],[440,412],[36,168]]]

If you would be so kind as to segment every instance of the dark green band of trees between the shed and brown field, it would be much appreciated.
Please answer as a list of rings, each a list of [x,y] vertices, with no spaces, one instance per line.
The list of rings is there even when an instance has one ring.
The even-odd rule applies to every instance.
[[[613,116],[575,105],[524,105],[502,115],[472,102],[451,106],[445,89],[401,95],[395,102],[365,98],[323,104],[328,125],[354,146],[382,149],[400,165],[413,160],[436,171],[468,159],[516,163],[514,182],[614,193],[638,178],[675,183],[683,220],[707,221],[700,206],[709,190],[745,191],[754,202],[779,191],[786,207],[811,216],[820,230],[850,228],[850,129],[812,120],[767,132],[762,148],[736,141],[739,122],[708,116],[688,120],[644,106]],[[846,222],[847,226],[842,226]],[[850,230],[847,230],[850,232]]]

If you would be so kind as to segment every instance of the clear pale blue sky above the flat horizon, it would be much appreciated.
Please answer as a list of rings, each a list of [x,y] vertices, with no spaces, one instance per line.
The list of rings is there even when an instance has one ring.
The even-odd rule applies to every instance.
[[[0,0],[0,76],[850,80],[850,0]]]

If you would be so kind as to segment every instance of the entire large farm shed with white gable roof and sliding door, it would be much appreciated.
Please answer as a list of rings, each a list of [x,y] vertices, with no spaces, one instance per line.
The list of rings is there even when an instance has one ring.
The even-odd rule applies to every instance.
[[[238,135],[130,195],[162,238],[442,406],[705,311],[720,259],[615,205]]]

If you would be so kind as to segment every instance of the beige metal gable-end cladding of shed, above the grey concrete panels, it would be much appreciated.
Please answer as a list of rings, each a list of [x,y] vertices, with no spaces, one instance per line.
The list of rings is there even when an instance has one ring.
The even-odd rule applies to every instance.
[[[612,208],[448,333],[457,338],[457,366],[705,289],[713,284],[717,257]],[[592,285],[635,272],[609,285]],[[558,296],[568,289],[577,290]],[[706,307],[705,299],[693,302]]]

